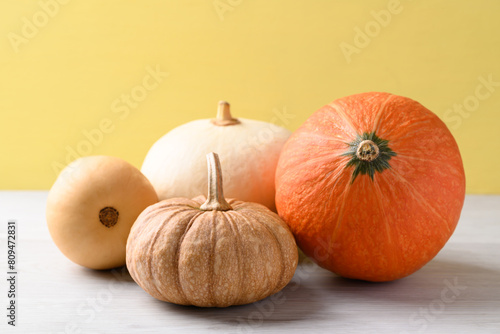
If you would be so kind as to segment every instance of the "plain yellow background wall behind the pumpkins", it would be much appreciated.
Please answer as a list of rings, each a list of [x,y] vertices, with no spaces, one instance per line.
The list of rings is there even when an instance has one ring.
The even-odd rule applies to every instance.
[[[294,130],[388,91],[448,124],[469,193],[499,193],[499,32],[497,0],[2,0],[0,189],[48,189],[80,153],[140,167],[220,99]]]

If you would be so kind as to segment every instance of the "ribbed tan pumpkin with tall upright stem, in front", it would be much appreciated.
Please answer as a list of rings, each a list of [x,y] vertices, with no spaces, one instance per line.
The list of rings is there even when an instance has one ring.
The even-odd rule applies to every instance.
[[[127,267],[153,297],[181,305],[248,304],[293,277],[295,240],[277,214],[257,203],[226,201],[218,156],[207,155],[209,193],[144,210],[127,242]]]

